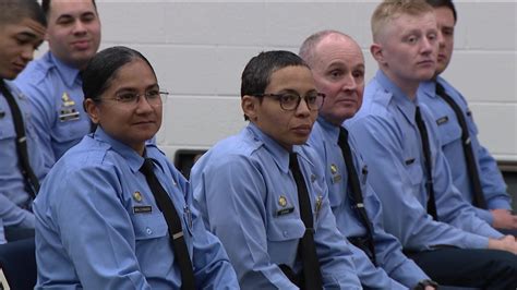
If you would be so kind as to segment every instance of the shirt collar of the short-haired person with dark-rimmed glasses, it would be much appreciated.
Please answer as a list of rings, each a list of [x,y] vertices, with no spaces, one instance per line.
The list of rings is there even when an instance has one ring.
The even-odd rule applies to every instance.
[[[262,130],[258,129],[254,123],[250,122],[248,130],[255,140],[258,140],[263,143],[264,147],[270,153],[273,160],[275,160],[275,164],[278,166],[278,168],[285,173],[289,172],[289,152],[286,150],[286,148],[284,148],[278,142],[262,132]],[[301,155],[301,147],[293,145],[292,152]]]

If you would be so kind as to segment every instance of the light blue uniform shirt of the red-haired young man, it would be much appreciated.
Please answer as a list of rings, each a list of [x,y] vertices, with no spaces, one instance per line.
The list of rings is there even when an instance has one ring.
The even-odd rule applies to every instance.
[[[378,71],[364,90],[361,109],[347,122],[369,165],[370,184],[386,209],[384,226],[408,250],[437,245],[486,249],[488,238],[502,238],[476,216],[454,188],[436,136],[436,126],[420,105],[431,147],[432,177],[438,220],[426,214],[428,192],[420,133],[414,122],[417,102]]]

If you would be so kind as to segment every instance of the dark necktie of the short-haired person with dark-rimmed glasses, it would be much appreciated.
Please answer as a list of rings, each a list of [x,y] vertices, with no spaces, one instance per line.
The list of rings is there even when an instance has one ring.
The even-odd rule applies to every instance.
[[[308,290],[322,289],[322,273],[316,255],[316,246],[314,244],[314,222],[312,218],[311,200],[309,198],[305,180],[300,171],[296,153],[289,155],[289,169],[297,183],[300,216],[303,225],[305,225],[305,232],[298,247],[302,259],[304,286]]]

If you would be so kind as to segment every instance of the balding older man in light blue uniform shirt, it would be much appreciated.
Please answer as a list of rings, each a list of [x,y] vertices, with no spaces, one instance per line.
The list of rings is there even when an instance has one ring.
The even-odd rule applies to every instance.
[[[354,208],[351,182],[338,145],[342,122],[359,110],[364,92],[364,58],[359,45],[336,31],[322,31],[309,36],[300,48],[300,56],[311,67],[316,88],[325,94],[325,101],[309,138],[325,166],[330,207],[338,229],[350,241],[369,239],[368,228]],[[356,150],[357,143],[349,137],[356,172],[361,182],[363,204],[370,223],[375,258],[366,245],[351,246],[361,283],[374,289],[435,289],[433,281],[414,262],[402,254],[400,242],[383,228],[383,210],[368,182],[368,166]],[[366,247],[364,250],[364,247]],[[363,250],[361,250],[363,249]],[[376,264],[374,264],[374,262]]]

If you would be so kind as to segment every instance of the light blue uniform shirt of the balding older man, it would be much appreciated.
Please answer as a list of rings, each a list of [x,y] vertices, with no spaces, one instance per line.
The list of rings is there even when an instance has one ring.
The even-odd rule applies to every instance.
[[[357,209],[352,207],[354,203],[351,196],[353,195],[348,186],[348,170],[341,148],[337,144],[338,137],[339,128],[320,117],[312,129],[309,144],[324,161],[328,198],[338,229],[346,237],[364,237],[366,235],[366,228],[363,226]],[[352,245],[353,261],[359,279],[363,286],[374,289],[414,288],[419,281],[430,278],[402,254],[398,240],[384,231],[381,202],[368,182],[368,167],[356,150],[357,144],[351,136],[348,143],[361,182],[364,207],[373,226],[373,240],[378,265],[378,267],[375,267],[362,250]]]

